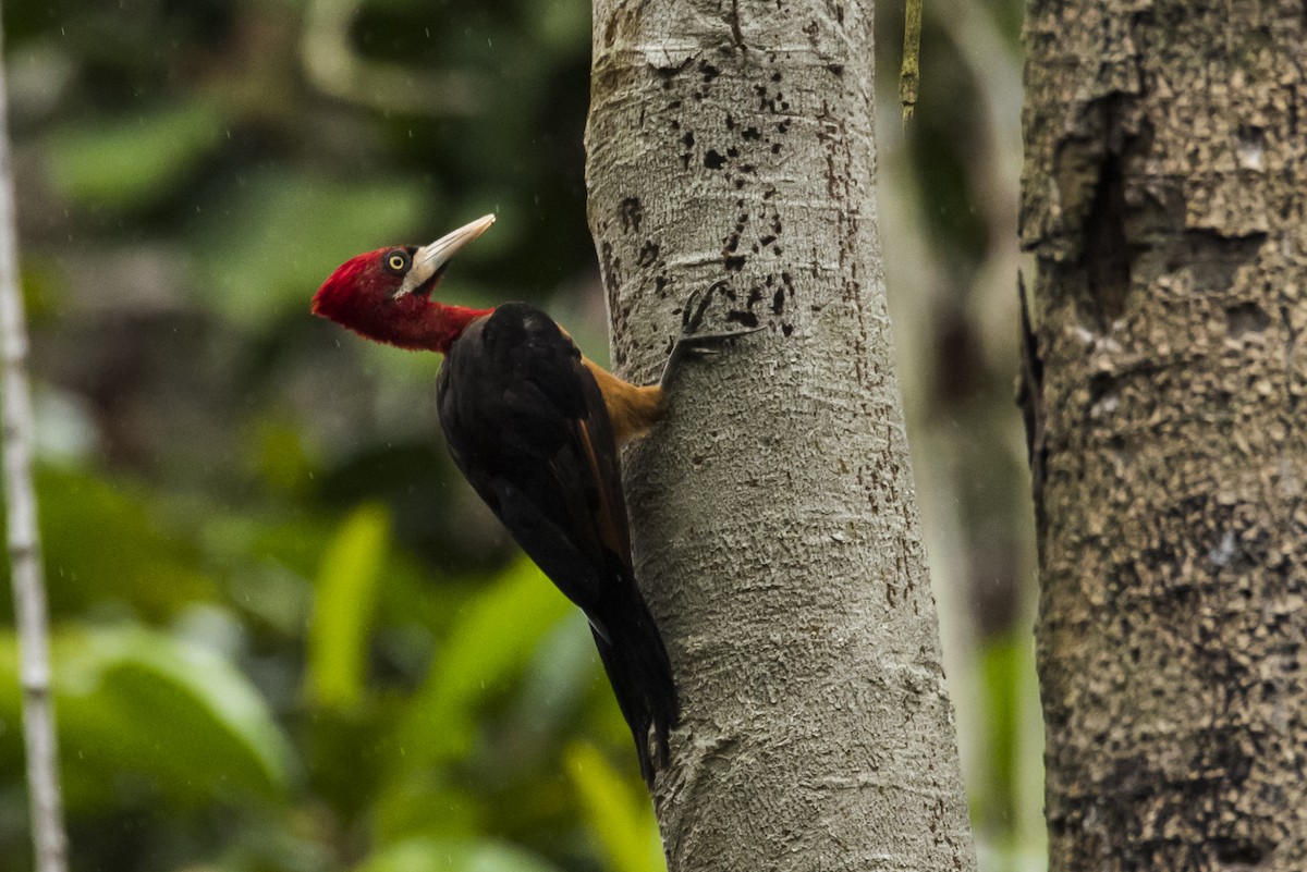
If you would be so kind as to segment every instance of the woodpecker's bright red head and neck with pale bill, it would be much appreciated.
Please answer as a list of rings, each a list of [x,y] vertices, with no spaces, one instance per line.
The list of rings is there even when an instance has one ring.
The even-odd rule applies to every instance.
[[[485,215],[430,245],[378,248],[341,264],[314,295],[314,315],[376,342],[448,351],[468,324],[489,309],[446,305],[431,290],[450,260],[494,223]]]

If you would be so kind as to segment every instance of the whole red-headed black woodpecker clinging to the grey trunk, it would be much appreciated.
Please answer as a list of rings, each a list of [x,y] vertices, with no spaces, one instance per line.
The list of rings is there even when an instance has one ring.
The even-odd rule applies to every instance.
[[[663,637],[635,585],[618,452],[663,415],[680,352],[724,337],[682,337],[661,382],[640,386],[584,356],[532,305],[474,309],[431,299],[454,255],[493,223],[485,215],[430,245],[358,255],[318,290],[312,312],[376,342],[444,355],[435,396],[454,462],[521,550],[586,612],[652,788],[655,761],[667,765],[680,700]]]

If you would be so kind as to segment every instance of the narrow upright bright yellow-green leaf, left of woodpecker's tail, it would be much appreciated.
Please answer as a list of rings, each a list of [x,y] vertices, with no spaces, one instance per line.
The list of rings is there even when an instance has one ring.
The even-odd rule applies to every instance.
[[[386,563],[389,517],[380,505],[358,508],[323,553],[308,625],[308,694],[346,708],[363,692],[367,638]]]

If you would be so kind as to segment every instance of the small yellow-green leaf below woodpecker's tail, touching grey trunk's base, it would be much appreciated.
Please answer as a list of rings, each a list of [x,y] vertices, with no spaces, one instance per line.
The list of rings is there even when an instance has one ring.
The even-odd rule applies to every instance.
[[[643,791],[637,796],[593,745],[567,748],[567,775],[580,796],[591,833],[616,872],[663,872],[663,846],[654,807]]]

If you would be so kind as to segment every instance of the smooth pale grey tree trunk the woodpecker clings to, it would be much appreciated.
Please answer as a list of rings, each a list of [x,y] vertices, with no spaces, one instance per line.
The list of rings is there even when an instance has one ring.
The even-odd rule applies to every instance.
[[[856,0],[595,5],[614,363],[654,380],[691,291],[706,332],[766,325],[687,360],[623,458],[684,706],[655,790],[673,872],[974,868],[885,315],[870,38]]]

